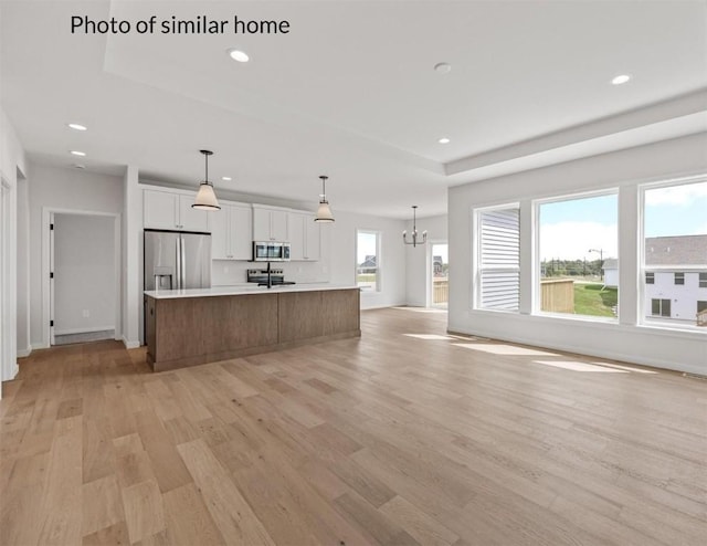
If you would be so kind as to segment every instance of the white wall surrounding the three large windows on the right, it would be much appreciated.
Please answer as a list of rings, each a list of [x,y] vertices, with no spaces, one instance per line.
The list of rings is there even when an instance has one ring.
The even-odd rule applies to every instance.
[[[639,322],[637,183],[707,172],[707,134],[569,161],[450,188],[450,315],[452,332],[707,374],[704,333],[674,332]],[[620,322],[530,315],[532,307],[531,199],[619,188]],[[520,313],[472,308],[472,208],[520,202]]]

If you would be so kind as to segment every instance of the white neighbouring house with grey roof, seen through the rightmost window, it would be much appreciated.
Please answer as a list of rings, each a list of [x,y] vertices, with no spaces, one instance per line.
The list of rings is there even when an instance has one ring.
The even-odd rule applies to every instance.
[[[645,240],[645,314],[695,324],[707,309],[707,235]]]

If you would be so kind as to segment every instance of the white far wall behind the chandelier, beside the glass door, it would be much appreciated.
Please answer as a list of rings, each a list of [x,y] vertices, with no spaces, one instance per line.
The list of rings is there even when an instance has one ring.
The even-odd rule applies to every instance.
[[[412,220],[407,223],[412,232]],[[408,305],[424,307],[430,303],[432,283],[432,244],[447,241],[447,216],[418,218],[418,232],[428,232],[428,243],[422,246],[405,245],[405,285]],[[402,235],[400,237],[402,239]],[[402,245],[402,240],[400,241]],[[453,258],[450,256],[450,262]],[[452,264],[450,264],[452,267]]]

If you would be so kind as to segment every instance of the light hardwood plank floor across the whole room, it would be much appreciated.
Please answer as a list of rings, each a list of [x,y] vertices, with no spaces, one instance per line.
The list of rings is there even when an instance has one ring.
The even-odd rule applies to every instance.
[[[707,380],[445,322],[162,374],[36,351],[0,401],[0,544],[706,544]]]

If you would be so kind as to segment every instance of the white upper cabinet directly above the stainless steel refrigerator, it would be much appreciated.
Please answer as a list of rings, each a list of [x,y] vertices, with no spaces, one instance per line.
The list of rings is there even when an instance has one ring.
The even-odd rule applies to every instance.
[[[210,231],[209,212],[191,208],[196,193],[145,190],[143,196],[146,228]]]

